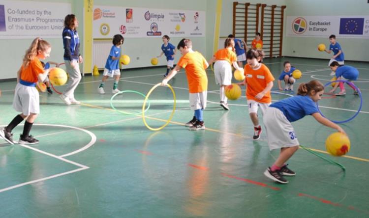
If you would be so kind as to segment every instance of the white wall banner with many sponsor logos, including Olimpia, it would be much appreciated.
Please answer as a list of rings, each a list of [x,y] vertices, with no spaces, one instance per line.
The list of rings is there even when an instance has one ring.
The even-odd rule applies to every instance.
[[[205,36],[205,11],[171,10],[119,6],[93,8],[93,38]]]

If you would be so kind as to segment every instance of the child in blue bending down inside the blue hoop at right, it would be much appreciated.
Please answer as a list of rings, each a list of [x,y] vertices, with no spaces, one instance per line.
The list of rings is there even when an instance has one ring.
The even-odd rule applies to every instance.
[[[355,67],[351,67],[348,65],[341,66],[338,64],[337,61],[333,61],[330,65],[332,72],[336,74],[337,80],[347,80],[349,82],[352,82],[354,80],[357,80],[359,77],[359,71]],[[353,82],[352,82],[353,83]],[[329,91],[329,93],[334,93],[339,85],[340,92],[336,93],[336,95],[346,95],[346,89],[344,87],[343,82],[336,82],[335,87]],[[359,94],[359,90],[356,90],[354,86],[351,84],[348,84],[353,90],[354,95]]]

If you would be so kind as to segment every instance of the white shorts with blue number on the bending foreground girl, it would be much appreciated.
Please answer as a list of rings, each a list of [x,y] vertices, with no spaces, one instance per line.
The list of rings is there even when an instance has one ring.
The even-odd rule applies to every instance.
[[[269,107],[263,116],[263,123],[270,150],[300,145],[293,126],[281,110]]]

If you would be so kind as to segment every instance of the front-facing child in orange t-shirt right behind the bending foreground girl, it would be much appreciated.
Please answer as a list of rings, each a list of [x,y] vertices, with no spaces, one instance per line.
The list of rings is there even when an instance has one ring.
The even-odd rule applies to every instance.
[[[260,138],[261,126],[257,116],[257,110],[261,109],[264,114],[265,110],[272,102],[270,90],[273,87],[274,77],[267,66],[262,64],[264,52],[261,50],[248,50],[246,54],[247,64],[245,66],[245,81],[239,83],[246,85],[246,99],[248,105],[248,113],[254,124],[253,140]]]

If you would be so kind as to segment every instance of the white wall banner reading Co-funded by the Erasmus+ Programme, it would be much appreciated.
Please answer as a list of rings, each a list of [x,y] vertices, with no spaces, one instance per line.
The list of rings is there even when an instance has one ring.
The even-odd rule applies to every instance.
[[[70,3],[0,0],[0,39],[61,38]]]

